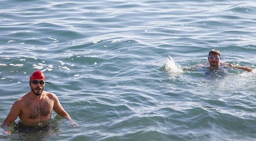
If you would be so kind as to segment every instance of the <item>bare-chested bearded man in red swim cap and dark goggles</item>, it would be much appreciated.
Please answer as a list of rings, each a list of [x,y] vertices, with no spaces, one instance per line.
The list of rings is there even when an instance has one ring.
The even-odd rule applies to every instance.
[[[72,127],[78,125],[61,106],[58,97],[51,92],[44,91],[45,83],[48,82],[45,81],[43,72],[35,71],[30,75],[30,92],[13,103],[8,116],[1,125],[6,134],[11,134],[9,126],[18,116],[25,125],[42,126],[52,117],[52,110],[61,117],[68,119]]]

